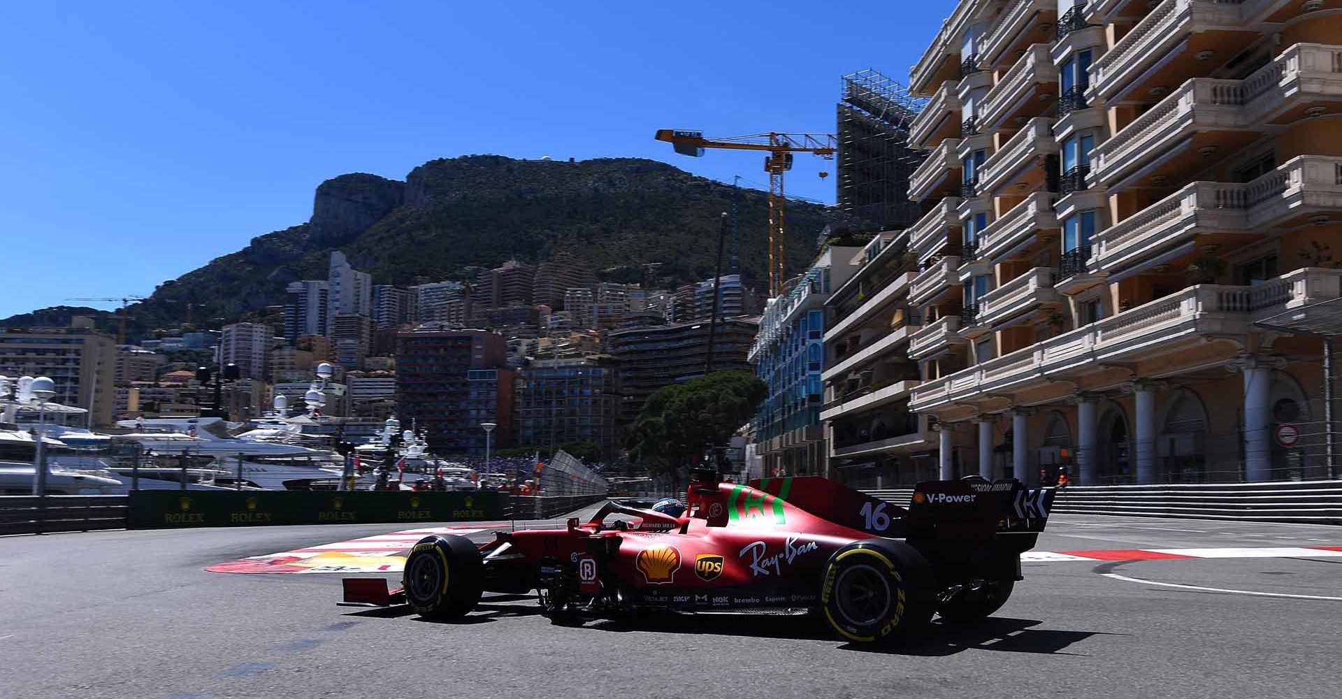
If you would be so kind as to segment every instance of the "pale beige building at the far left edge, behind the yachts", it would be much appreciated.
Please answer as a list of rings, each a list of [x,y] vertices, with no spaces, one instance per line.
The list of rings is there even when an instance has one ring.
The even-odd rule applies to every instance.
[[[0,330],[0,374],[51,377],[52,401],[91,411],[90,424],[109,425],[117,401],[117,339],[94,330],[89,318],[75,317],[72,325]]]

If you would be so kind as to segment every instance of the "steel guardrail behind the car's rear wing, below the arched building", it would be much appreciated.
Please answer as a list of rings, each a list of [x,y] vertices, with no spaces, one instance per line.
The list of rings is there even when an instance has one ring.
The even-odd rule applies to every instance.
[[[864,491],[906,507],[913,488]],[[1053,514],[1342,525],[1342,480],[1071,486]]]

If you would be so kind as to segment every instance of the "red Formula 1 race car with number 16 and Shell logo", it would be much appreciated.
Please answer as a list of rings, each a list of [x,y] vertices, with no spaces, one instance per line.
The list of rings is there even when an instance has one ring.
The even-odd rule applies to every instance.
[[[817,476],[705,479],[690,484],[684,517],[608,502],[589,522],[498,531],[480,546],[427,537],[405,561],[401,589],[346,578],[345,602],[452,617],[482,592],[534,589],[550,614],[819,609],[848,640],[896,640],[933,613],[969,621],[996,612],[1052,499],[1017,480],[935,480],[921,483],[906,510]]]

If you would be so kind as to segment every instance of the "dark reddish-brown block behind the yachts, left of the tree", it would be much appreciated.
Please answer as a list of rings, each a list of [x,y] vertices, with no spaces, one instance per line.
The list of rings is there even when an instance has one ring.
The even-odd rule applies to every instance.
[[[484,453],[482,423],[498,425],[497,447],[513,440],[513,380],[507,343],[486,330],[421,326],[400,333],[396,404],[403,424],[413,421],[443,455]]]

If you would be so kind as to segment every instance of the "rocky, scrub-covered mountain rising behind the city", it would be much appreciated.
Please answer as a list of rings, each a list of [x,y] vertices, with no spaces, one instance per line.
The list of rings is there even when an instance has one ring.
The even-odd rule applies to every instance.
[[[727,185],[636,158],[467,156],[425,162],[405,181],[342,174],[317,188],[307,223],[254,237],[132,306],[132,337],[176,326],[188,303],[195,319],[256,317],[283,303],[289,282],[325,279],[333,250],[372,272],[374,283],[460,279],[467,267],[541,262],[560,251],[609,280],[639,280],[644,263],[662,263],[663,284],[703,279],[713,274],[721,213],[731,197]],[[764,286],[766,195],[741,189],[737,205],[741,271]],[[809,263],[828,223],[824,207],[789,203],[789,271]],[[24,317],[0,326],[30,325]]]

